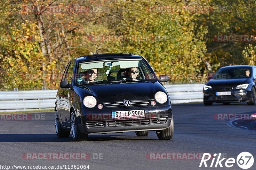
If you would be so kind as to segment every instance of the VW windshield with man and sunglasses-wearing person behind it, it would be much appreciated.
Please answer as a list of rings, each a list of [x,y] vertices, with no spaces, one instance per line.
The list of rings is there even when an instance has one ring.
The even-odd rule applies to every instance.
[[[152,80],[157,80],[155,73],[141,59],[79,63],[76,74],[76,85]]]

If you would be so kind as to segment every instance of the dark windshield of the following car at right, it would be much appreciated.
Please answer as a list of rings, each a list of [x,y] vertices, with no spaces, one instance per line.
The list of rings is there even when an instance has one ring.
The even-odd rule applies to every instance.
[[[250,67],[231,67],[218,70],[213,79],[234,79],[234,78],[249,78],[251,77],[252,69]]]

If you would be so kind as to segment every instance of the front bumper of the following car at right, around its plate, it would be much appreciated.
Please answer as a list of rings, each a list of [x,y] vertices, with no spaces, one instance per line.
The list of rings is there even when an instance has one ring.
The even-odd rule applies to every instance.
[[[248,90],[233,90],[231,95],[228,96],[217,96],[216,92],[214,90],[204,91],[204,102],[247,102],[250,100],[251,95],[251,91]]]

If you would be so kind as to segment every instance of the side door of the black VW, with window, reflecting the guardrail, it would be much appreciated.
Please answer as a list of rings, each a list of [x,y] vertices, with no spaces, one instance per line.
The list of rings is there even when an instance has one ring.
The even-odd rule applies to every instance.
[[[65,74],[63,80],[68,80],[68,84],[72,85],[73,80],[73,73],[74,73],[75,63],[73,61],[70,62],[68,66],[67,73]],[[62,88],[60,93],[60,117],[63,126],[70,127],[70,94],[72,93],[72,90],[70,88]]]

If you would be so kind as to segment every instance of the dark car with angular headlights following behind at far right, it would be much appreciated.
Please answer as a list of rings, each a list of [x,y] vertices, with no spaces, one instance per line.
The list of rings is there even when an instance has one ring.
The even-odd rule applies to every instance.
[[[204,105],[213,102],[228,105],[246,101],[256,105],[256,67],[234,65],[221,67],[204,85]]]

